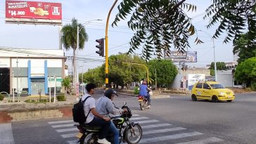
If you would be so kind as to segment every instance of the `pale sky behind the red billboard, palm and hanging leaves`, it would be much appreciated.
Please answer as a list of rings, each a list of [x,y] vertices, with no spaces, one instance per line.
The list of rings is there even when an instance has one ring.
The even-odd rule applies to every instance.
[[[38,0],[39,1],[39,0]],[[84,24],[86,32],[89,35],[89,40],[86,42],[83,51],[78,51],[79,72],[86,72],[88,69],[100,66],[103,64],[103,57],[99,56],[95,51],[98,51],[96,39],[105,37],[105,23],[110,7],[113,5],[113,0],[41,0],[43,2],[56,2],[62,4],[63,10],[63,25],[71,22],[72,18],[76,18],[78,22]],[[117,2],[110,15],[110,23],[115,19],[117,14],[117,6],[122,0]],[[197,63],[186,63],[191,67],[206,67],[214,61],[212,35],[215,33],[217,26],[210,29],[206,28],[209,19],[203,20],[205,9],[212,3],[210,0],[186,0],[188,4],[197,6],[196,12],[188,13],[192,18],[195,26],[196,35],[204,41],[203,44],[196,45],[194,43],[196,35],[191,37],[191,48],[188,51],[198,52]],[[34,49],[58,49],[59,48],[59,27],[57,25],[24,25],[24,24],[6,24],[5,22],[5,0],[0,0],[0,47],[11,48],[34,48]],[[101,19],[101,21],[96,21]],[[94,20],[94,21],[91,21]],[[88,21],[90,21],[88,23]],[[201,31],[199,31],[201,30]],[[127,20],[117,23],[117,27],[109,27],[108,29],[108,55],[114,55],[119,52],[124,53],[129,50],[129,41],[134,32],[127,26]],[[216,62],[232,62],[233,47],[231,43],[223,44],[225,35],[219,39],[215,39],[215,56]],[[62,46],[63,48],[63,46]],[[141,53],[142,49],[136,51]],[[72,50],[65,51],[65,55],[72,56]],[[90,59],[90,60],[84,60]],[[66,64],[71,70],[71,59],[68,58]]]

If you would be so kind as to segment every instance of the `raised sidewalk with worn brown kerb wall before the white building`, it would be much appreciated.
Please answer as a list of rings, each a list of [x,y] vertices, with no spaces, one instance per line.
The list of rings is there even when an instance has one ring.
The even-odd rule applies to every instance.
[[[27,99],[27,98],[26,98]],[[77,103],[75,96],[67,96],[66,101],[56,103],[8,103],[8,98],[0,101],[0,124],[8,122],[20,122],[32,119],[49,119],[57,117],[72,117],[72,107]]]

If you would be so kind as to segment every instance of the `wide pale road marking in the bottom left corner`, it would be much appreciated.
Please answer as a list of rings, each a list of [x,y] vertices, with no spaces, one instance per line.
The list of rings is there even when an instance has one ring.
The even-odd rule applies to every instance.
[[[0,124],[0,143],[14,144],[13,130],[11,128],[11,123]]]

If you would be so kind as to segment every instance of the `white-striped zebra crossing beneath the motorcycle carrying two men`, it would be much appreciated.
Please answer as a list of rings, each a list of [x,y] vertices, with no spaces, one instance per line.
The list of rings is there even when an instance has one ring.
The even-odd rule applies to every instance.
[[[207,144],[224,143],[221,138],[210,137],[198,131],[192,131],[174,124],[162,123],[156,119],[133,114],[131,122],[141,125],[143,136],[139,143],[161,143],[161,144]],[[77,143],[78,129],[74,127],[72,120],[48,122],[53,129],[56,129],[68,144]]]

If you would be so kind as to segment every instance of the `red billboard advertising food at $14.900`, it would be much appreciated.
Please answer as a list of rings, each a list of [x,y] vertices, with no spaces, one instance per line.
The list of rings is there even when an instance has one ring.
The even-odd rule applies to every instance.
[[[6,22],[61,25],[61,4],[39,1],[6,1]]]

